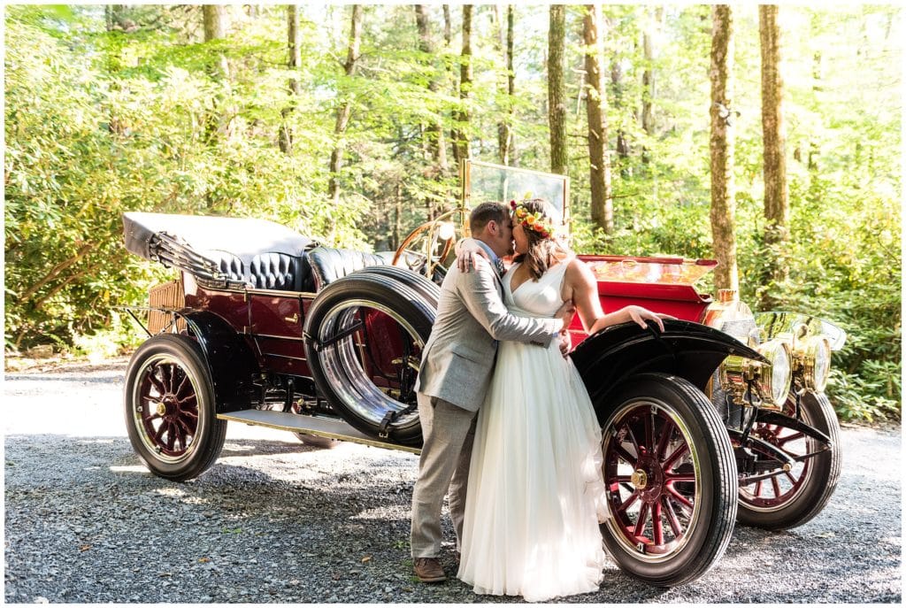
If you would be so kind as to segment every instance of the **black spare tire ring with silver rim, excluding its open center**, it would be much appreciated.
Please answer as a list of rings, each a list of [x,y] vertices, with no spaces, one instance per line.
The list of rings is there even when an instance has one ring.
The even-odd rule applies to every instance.
[[[366,435],[420,446],[421,425],[414,407],[390,424],[387,437],[379,438],[381,420],[390,410],[401,411],[414,406],[414,391],[407,392],[404,402],[384,394],[362,370],[352,337],[325,348],[316,347],[317,343],[329,340],[351,325],[352,321],[347,317],[359,306],[396,317],[394,320],[400,329],[417,346],[423,347],[428,342],[436,312],[435,304],[429,298],[390,275],[358,271],[344,276],[323,288],[314,298],[305,319],[305,357],[315,385],[344,420]],[[412,379],[414,382],[414,376]]]

